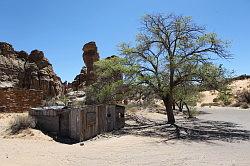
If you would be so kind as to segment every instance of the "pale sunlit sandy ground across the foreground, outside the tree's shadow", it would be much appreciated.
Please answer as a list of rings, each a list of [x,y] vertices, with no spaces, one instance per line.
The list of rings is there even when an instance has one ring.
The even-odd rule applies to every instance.
[[[138,126],[134,122],[133,125],[132,120],[128,120],[125,129],[137,126],[142,130],[86,141],[83,146],[46,139],[0,138],[0,165],[249,166],[250,109],[205,107],[200,110],[202,114],[196,120],[183,120],[177,116],[177,124],[192,128],[189,132],[206,130],[200,133],[202,137],[185,136],[184,133],[183,139],[166,139],[161,135],[164,131],[157,133],[168,130],[164,125],[144,130],[143,126],[163,122],[165,115],[140,111],[137,120],[147,121],[147,124]],[[151,135],[146,136],[146,131]]]

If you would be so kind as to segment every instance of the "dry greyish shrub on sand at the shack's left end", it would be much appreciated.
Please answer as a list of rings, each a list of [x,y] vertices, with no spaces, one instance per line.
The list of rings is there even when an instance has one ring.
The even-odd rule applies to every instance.
[[[9,123],[8,131],[10,134],[17,134],[27,128],[34,128],[36,126],[35,120],[30,116],[16,116]]]

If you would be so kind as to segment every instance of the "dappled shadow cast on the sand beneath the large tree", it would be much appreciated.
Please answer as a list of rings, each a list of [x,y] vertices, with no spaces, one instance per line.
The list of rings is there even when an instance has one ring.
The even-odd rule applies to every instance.
[[[225,142],[248,141],[250,131],[241,129],[236,123],[225,121],[211,121],[202,119],[178,119],[176,125],[166,123],[155,123],[146,118],[138,118],[129,115],[125,128],[114,131],[114,134],[132,134],[139,136],[159,137],[165,141],[171,139],[182,139],[187,141],[212,141]]]

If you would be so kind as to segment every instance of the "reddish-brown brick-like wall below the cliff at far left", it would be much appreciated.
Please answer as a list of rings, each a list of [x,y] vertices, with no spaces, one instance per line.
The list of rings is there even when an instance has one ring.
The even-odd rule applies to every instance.
[[[43,92],[15,88],[0,89],[0,112],[25,112],[42,104]]]

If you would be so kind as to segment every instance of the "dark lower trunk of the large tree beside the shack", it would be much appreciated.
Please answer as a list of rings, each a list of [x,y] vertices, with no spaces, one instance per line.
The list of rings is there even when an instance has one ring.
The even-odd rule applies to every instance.
[[[175,118],[174,118],[174,112],[173,112],[173,100],[170,95],[163,98],[163,102],[166,108],[167,117],[168,117],[168,124],[174,124]]]

